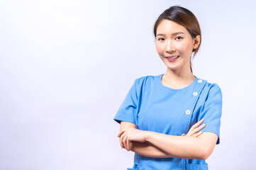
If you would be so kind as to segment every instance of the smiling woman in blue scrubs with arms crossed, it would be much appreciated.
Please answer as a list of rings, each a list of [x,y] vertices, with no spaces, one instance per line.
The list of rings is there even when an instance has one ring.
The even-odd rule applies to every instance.
[[[172,6],[155,22],[154,34],[167,72],[135,79],[114,118],[121,123],[121,147],[135,152],[133,169],[208,169],[205,159],[219,143],[222,94],[192,73],[199,22],[187,8]]]

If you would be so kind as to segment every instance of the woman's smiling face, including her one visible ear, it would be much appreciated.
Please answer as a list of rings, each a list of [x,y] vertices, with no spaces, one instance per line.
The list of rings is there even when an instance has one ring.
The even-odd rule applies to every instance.
[[[200,35],[192,38],[184,26],[163,20],[157,26],[157,52],[171,70],[190,71],[192,50],[199,45]]]

